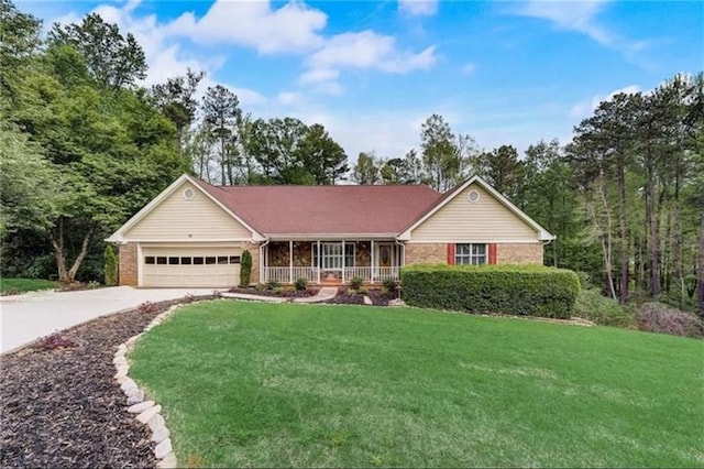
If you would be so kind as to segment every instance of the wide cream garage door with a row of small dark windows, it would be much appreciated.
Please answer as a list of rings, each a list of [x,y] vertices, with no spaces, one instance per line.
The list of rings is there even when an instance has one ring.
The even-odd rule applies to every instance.
[[[144,247],[142,286],[237,286],[240,254],[239,248]]]

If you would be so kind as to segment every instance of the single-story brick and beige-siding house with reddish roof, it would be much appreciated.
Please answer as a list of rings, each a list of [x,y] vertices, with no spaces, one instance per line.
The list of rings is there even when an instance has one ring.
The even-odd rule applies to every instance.
[[[252,254],[252,283],[375,283],[415,263],[542,263],[554,237],[480,177],[422,185],[213,186],[183,175],[107,241],[120,284],[224,287]]]

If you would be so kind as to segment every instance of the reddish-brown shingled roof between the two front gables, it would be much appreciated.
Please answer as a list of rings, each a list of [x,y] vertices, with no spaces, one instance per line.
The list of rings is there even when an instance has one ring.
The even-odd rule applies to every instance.
[[[252,228],[274,238],[394,236],[442,197],[421,185],[213,186],[195,181]]]

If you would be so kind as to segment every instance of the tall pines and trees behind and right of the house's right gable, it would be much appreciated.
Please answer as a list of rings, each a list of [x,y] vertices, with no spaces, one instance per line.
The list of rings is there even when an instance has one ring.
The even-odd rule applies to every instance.
[[[441,116],[404,157],[360,154],[359,184],[486,179],[558,240],[546,263],[584,272],[606,295],[660,298],[704,312],[704,77],[676,75],[650,92],[618,94],[570,142],[481,150]],[[697,293],[698,292],[698,293]]]

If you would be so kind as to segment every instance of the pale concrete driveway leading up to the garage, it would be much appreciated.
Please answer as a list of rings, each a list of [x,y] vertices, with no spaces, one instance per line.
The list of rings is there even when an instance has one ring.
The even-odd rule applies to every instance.
[[[80,323],[133,308],[144,302],[208,295],[212,288],[110,288],[35,292],[0,297],[0,353]]]

